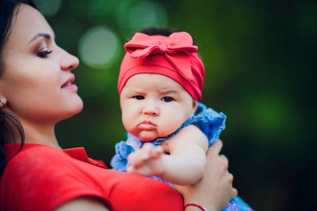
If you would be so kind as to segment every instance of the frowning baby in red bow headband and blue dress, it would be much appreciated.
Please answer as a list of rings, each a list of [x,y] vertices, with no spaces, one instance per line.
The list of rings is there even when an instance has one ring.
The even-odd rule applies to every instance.
[[[192,185],[203,179],[207,149],[226,116],[199,103],[205,68],[190,34],[143,32],[150,35],[138,32],[125,44],[117,89],[128,139],[116,144],[111,165],[171,186]],[[251,210],[233,200],[245,209],[230,206]]]

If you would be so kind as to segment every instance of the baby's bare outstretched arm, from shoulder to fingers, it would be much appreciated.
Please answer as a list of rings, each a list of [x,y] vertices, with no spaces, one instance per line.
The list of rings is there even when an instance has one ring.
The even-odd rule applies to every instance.
[[[144,145],[128,157],[127,172],[155,175],[173,184],[191,185],[203,178],[208,139],[194,125],[188,125],[167,141],[170,155],[163,149]]]

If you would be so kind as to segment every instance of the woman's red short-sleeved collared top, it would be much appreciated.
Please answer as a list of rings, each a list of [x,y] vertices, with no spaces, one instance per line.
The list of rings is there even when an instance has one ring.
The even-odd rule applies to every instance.
[[[5,145],[11,157],[20,145]],[[106,170],[84,148],[59,150],[25,144],[7,164],[0,183],[0,209],[50,211],[66,201],[95,196],[114,211],[182,211],[183,199],[169,185],[143,176]]]

